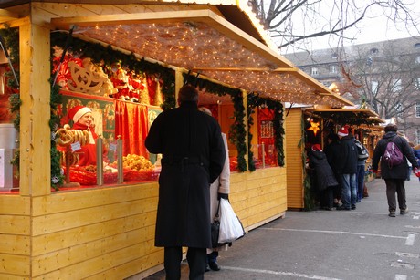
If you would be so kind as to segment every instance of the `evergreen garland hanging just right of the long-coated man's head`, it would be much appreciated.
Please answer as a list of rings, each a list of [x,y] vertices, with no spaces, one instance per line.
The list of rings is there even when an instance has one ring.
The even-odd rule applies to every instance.
[[[234,103],[235,121],[229,129],[228,138],[236,146],[237,170],[241,172],[247,171],[247,161],[245,159],[245,155],[247,154],[247,145],[245,142],[247,131],[245,130],[244,124],[245,107],[242,91],[238,88],[225,87],[207,79],[194,77],[186,73],[184,73],[183,76],[184,81],[186,81],[185,83],[192,84],[195,87],[200,88],[200,90],[205,89],[206,92],[216,94],[219,97],[225,96],[226,94],[230,96],[232,102]]]

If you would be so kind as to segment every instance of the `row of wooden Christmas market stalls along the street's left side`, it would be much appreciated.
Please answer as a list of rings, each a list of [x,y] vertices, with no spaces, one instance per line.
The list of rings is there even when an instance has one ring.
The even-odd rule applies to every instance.
[[[18,88],[4,94],[15,114],[1,119],[8,129],[19,119],[17,149],[0,147],[19,151],[19,177],[0,193],[0,277],[123,279],[162,269],[163,250],[154,247],[159,155],[143,140],[184,83],[200,89],[200,106],[229,135],[229,198],[247,231],[305,207],[306,116],[317,116],[320,128],[342,124],[284,102],[352,106],[280,57],[245,1],[3,1],[0,8],[2,44],[19,57],[11,63]],[[102,161],[89,170],[70,164],[77,152],[63,141],[60,151],[57,131],[77,105],[94,113],[102,161],[110,163],[104,173]],[[372,130],[369,122],[345,123]]]

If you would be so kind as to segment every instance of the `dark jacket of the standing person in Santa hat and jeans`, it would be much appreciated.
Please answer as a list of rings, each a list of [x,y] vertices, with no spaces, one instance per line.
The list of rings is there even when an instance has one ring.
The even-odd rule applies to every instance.
[[[357,147],[354,144],[354,137],[347,135],[341,138],[339,166],[341,174],[353,174],[357,171]]]

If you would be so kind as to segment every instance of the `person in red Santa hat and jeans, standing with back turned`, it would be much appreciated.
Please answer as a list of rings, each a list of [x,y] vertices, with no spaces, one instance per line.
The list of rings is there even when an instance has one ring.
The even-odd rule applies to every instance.
[[[357,148],[354,137],[347,125],[342,126],[337,135],[340,138],[341,202],[337,210],[354,210],[357,202]]]

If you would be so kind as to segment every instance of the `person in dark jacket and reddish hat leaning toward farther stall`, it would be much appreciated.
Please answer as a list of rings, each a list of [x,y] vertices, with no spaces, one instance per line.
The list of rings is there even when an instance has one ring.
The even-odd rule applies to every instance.
[[[320,192],[320,208],[331,210],[333,206],[333,187],[338,185],[327,156],[320,149],[320,144],[312,145],[310,149],[310,169],[314,172],[314,185]]]

